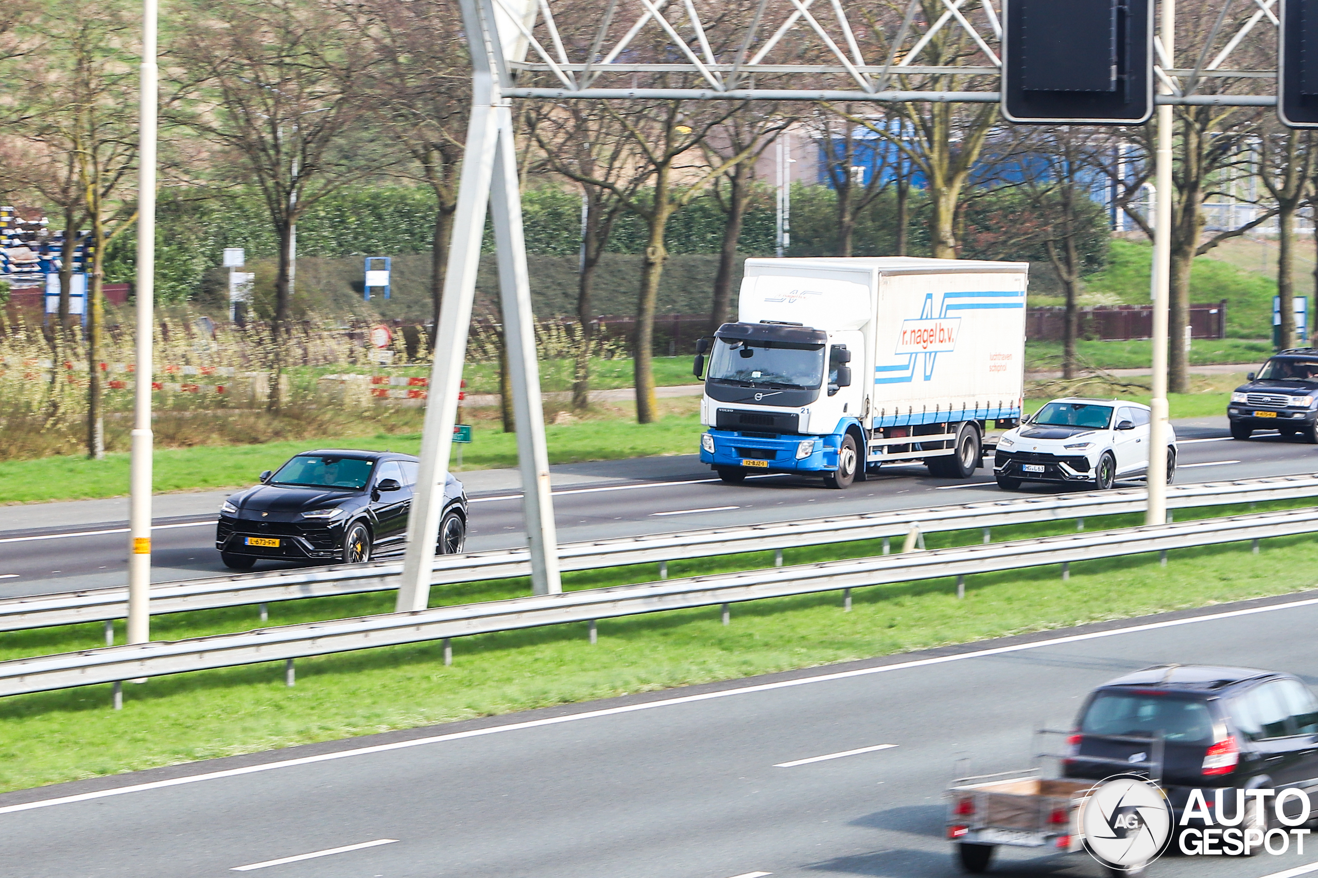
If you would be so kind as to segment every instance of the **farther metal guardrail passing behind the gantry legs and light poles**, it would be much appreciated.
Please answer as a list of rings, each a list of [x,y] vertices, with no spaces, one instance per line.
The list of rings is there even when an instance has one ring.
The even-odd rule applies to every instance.
[[[746,552],[904,537],[912,525],[923,533],[996,528],[1143,512],[1144,488],[1033,496],[927,507],[895,512],[803,519],[749,527],[710,528],[685,533],[569,542],[559,546],[560,569],[596,570],[637,563],[702,558]],[[1264,503],[1318,496],[1318,474],[1236,482],[1201,482],[1168,488],[1169,508]],[[435,559],[431,584],[530,575],[526,549],[473,552]],[[398,587],[402,565],[377,562],[355,567],[314,567],[257,574],[233,574],[152,586],[152,612],[215,609],[302,598],[326,598]],[[94,588],[0,600],[0,632],[124,619],[128,590]]]

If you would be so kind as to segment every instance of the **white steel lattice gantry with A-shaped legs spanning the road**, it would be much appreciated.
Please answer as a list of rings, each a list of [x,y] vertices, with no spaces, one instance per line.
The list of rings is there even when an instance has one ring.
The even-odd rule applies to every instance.
[[[535,594],[561,591],[511,99],[998,103],[1002,3],[461,0],[473,107],[399,611],[422,609],[428,599],[486,205],[498,251],[532,584]],[[1176,22],[1168,3],[1161,33],[1189,25],[1195,37],[1182,34],[1178,58],[1193,63],[1177,66],[1165,47],[1172,41],[1153,38],[1155,103],[1276,104],[1278,0],[1209,0],[1189,22]],[[1153,505],[1151,498],[1151,515]]]

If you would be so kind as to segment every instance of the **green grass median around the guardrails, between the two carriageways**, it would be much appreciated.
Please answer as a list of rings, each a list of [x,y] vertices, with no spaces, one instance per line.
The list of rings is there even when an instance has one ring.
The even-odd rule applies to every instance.
[[[1228,513],[1217,509],[1217,515]],[[1178,517],[1185,517],[1178,513]],[[1112,519],[1103,527],[1133,523]],[[1099,525],[1097,521],[1091,527]],[[995,529],[998,538],[1061,525]],[[973,541],[975,533],[931,534],[929,545]],[[788,550],[787,563],[874,554],[874,544]],[[854,591],[842,613],[837,594],[738,604],[730,627],[716,607],[600,623],[590,646],[584,624],[481,634],[455,641],[443,666],[438,644],[390,646],[301,659],[298,684],[282,683],[282,662],[153,679],[125,688],[121,712],[109,687],[90,686],[0,700],[0,791],[159,765],[336,740],[397,728],[488,716],[627,692],[884,656],[1106,619],[1198,607],[1310,588],[1318,542],[1278,538],[1240,563],[1248,544],[970,577],[957,600],[950,579]],[[742,555],[671,565],[673,575],[767,565]],[[568,587],[651,579],[655,570],[593,571]],[[509,598],[525,581],[436,590],[438,603]],[[272,604],[270,624],[380,612],[390,595]],[[250,607],[156,620],[162,640],[243,629]],[[121,632],[120,632],[121,634]],[[95,646],[100,625],[7,634],[0,658]]]

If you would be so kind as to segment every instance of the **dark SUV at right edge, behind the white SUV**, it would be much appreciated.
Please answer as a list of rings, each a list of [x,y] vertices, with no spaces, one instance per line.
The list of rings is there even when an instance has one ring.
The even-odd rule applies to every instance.
[[[1259,374],[1231,394],[1231,438],[1253,430],[1300,433],[1318,444],[1318,348],[1292,348],[1271,357]]]

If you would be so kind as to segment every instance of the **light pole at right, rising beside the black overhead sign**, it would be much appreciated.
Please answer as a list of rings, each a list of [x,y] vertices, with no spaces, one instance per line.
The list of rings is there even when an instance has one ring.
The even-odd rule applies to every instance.
[[[1162,0],[1162,20],[1159,26],[1162,41],[1162,58],[1166,66],[1173,66],[1176,58],[1176,0]],[[1168,76],[1170,76],[1170,71]],[[1170,95],[1165,78],[1160,79],[1159,91]],[[1149,469],[1148,469],[1148,508],[1144,524],[1164,524],[1166,521],[1166,351],[1168,351],[1168,308],[1172,291],[1172,107],[1161,104],[1157,108],[1157,153],[1155,155],[1155,176],[1157,178],[1157,203],[1153,215],[1153,399],[1149,400]]]

